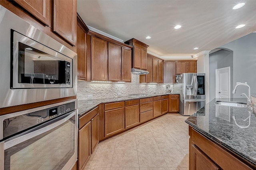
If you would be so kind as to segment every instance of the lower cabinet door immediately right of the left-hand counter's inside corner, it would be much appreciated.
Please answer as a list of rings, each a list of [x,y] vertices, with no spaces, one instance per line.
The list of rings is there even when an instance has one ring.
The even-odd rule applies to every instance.
[[[105,111],[105,137],[124,130],[124,108]]]

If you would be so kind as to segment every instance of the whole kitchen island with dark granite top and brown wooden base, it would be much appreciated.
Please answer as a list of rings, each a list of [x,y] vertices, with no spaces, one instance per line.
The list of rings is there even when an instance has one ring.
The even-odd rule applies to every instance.
[[[215,105],[214,99],[186,119],[190,170],[256,169],[256,113],[247,107]],[[230,101],[246,103],[245,98]],[[235,119],[234,119],[235,116]]]

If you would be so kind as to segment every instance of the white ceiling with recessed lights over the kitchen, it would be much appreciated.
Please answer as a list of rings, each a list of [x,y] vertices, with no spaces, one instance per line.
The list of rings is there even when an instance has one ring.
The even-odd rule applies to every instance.
[[[77,12],[86,25],[138,39],[158,56],[195,55],[256,31],[256,0],[77,0]]]

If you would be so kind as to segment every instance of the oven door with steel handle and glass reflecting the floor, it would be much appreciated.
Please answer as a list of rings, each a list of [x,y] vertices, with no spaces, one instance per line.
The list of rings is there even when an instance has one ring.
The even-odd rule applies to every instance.
[[[61,170],[69,169],[77,158],[76,111],[66,119],[50,124],[39,131],[40,135],[31,136],[36,131],[11,140],[4,144],[4,170]],[[50,126],[54,127],[51,128]],[[14,146],[11,146],[14,145]],[[11,147],[10,147],[11,146]],[[8,148],[9,147],[9,148]],[[8,148],[8,149],[6,149]],[[1,169],[1,168],[0,168]]]

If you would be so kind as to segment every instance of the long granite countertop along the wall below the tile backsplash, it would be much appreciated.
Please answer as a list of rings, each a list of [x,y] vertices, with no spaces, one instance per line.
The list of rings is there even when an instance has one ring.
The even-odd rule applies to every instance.
[[[170,93],[168,93],[168,94],[170,94]],[[164,95],[168,95],[168,94],[167,93],[159,93],[159,94],[150,94],[149,96],[143,96],[143,97],[120,96],[120,97],[115,97],[115,98],[78,100],[78,116],[81,116],[85,112],[89,111],[90,109],[96,107],[98,104],[101,104],[101,103],[119,102],[119,101],[134,100],[134,99],[140,99],[140,98],[150,98],[152,96],[164,96]],[[178,93],[171,93],[171,94],[178,94]]]

